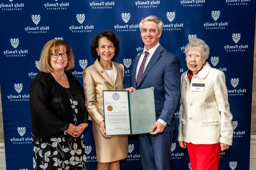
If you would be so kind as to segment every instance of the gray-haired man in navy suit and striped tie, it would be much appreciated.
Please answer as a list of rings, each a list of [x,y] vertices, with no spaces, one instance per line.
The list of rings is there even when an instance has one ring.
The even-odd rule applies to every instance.
[[[143,170],[170,170],[173,115],[180,95],[180,61],[159,43],[163,30],[160,18],[144,17],[139,28],[145,46],[133,59],[131,87],[126,90],[154,87],[157,118],[151,129],[156,129],[154,132],[138,135],[141,163]]]

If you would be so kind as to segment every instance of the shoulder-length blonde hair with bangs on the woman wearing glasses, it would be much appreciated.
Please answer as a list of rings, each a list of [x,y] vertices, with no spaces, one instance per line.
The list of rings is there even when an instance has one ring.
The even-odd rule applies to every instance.
[[[65,40],[50,40],[46,42],[44,45],[41,54],[40,54],[40,60],[39,60],[39,70],[45,73],[53,72],[53,69],[51,67],[51,53],[59,52],[61,47],[65,47],[66,51],[68,53],[68,64],[64,68],[64,70],[71,70],[75,66],[75,60],[74,60],[74,54],[72,52],[71,46],[68,44]]]

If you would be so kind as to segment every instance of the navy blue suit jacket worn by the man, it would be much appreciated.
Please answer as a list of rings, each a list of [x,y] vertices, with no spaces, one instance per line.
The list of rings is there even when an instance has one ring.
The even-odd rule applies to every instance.
[[[172,118],[180,96],[180,60],[159,44],[137,87],[135,75],[142,52],[133,59],[130,85],[135,89],[154,87],[156,118],[167,123],[164,132],[174,130]]]

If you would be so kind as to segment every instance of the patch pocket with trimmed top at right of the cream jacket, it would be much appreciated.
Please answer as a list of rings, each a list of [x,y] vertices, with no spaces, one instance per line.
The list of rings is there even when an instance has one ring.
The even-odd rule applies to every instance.
[[[202,138],[212,139],[220,136],[218,121],[202,122]]]

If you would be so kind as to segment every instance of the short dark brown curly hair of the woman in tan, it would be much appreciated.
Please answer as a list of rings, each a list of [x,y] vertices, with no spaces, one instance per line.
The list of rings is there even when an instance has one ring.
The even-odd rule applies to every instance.
[[[99,47],[99,40],[103,37],[106,37],[109,41],[113,42],[115,49],[115,55],[113,56],[112,59],[115,59],[117,55],[119,54],[119,39],[115,35],[115,33],[111,31],[103,31],[100,34],[98,34],[96,37],[92,39],[92,44],[91,44],[91,55],[94,59],[100,59],[100,56],[98,56],[98,52],[96,51],[96,48]]]

